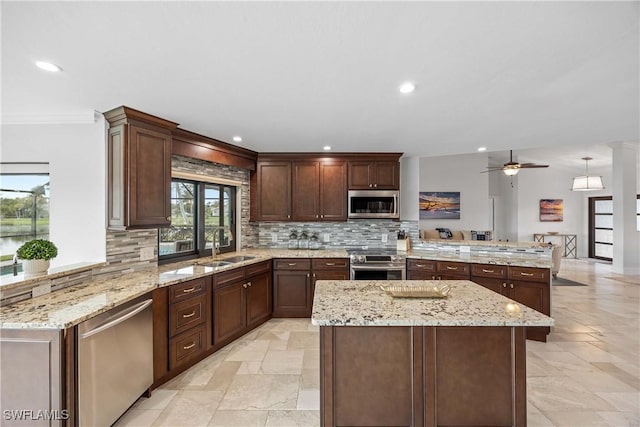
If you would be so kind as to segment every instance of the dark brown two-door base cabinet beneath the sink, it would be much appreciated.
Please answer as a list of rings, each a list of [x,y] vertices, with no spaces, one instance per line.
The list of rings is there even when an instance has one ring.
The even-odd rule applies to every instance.
[[[213,344],[219,347],[271,317],[271,261],[214,275]]]

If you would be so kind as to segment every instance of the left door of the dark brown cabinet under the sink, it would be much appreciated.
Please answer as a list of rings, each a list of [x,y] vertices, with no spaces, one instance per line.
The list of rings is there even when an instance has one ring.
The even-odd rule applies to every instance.
[[[247,326],[244,281],[213,292],[213,343],[233,338]]]

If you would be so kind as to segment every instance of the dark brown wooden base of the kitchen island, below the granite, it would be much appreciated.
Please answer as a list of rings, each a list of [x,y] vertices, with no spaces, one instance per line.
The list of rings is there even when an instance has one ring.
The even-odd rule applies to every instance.
[[[524,426],[523,327],[320,328],[321,426]]]

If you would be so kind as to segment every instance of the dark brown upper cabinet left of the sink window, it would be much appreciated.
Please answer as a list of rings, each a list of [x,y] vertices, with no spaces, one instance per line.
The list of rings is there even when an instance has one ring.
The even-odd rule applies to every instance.
[[[128,107],[105,113],[108,227],[171,225],[171,132],[177,124]]]

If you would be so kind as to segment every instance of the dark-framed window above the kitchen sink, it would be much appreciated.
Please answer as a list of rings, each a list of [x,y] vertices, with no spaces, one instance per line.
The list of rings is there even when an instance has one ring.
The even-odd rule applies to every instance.
[[[236,188],[208,182],[171,181],[171,227],[158,231],[160,260],[211,255],[214,240],[220,252],[236,249]]]

